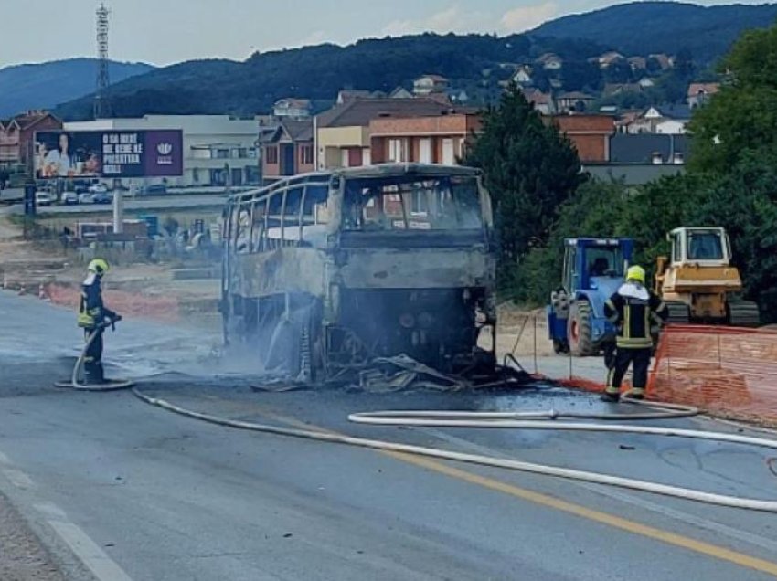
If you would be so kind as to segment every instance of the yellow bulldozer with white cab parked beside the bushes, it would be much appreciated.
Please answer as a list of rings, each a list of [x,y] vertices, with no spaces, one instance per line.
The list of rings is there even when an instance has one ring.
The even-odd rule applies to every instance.
[[[655,292],[669,322],[757,327],[758,305],[740,299],[740,271],[731,266],[731,243],[721,227],[681,227],[668,234],[671,257],[658,257]]]

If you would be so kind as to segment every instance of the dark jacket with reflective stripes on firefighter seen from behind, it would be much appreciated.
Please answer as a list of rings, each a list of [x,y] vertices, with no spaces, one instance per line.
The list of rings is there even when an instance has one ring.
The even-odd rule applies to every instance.
[[[618,347],[649,349],[653,346],[651,325],[664,322],[668,309],[655,292],[626,282],[604,303],[604,314],[618,330]]]

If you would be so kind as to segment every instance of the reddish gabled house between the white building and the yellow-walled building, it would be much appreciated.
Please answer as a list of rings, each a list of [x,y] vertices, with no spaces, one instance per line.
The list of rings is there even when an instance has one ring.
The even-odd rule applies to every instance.
[[[282,117],[271,131],[261,132],[259,144],[264,184],[315,169],[313,119]]]

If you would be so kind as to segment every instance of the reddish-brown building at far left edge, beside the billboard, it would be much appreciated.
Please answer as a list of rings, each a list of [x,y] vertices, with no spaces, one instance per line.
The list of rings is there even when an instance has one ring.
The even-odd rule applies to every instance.
[[[0,168],[31,172],[35,132],[61,128],[62,121],[48,111],[27,111],[11,119],[0,119]]]

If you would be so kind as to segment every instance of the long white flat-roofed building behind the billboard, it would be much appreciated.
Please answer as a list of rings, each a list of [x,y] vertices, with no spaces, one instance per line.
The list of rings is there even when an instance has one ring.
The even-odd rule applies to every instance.
[[[257,119],[229,115],[146,115],[142,119],[103,119],[65,123],[65,131],[180,130],[184,138],[184,174],[168,177],[170,186],[259,183]],[[148,182],[161,182],[154,178]]]

